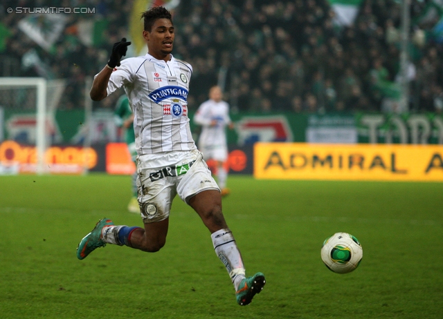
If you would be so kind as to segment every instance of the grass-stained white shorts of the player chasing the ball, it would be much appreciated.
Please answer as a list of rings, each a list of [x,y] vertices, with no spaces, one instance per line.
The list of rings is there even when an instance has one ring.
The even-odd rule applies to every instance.
[[[145,224],[168,218],[177,194],[188,203],[190,197],[201,191],[220,191],[199,151],[186,152],[179,162],[155,168],[143,167],[147,166],[140,162],[143,156],[137,160],[137,199]]]

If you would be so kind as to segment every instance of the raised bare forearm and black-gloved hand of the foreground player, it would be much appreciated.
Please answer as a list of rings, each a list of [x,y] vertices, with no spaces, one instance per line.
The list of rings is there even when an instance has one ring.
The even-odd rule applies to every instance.
[[[130,44],[131,42],[127,42],[126,38],[123,38],[120,42],[114,43],[107,66],[105,66],[105,68],[103,68],[94,78],[91,91],[89,92],[91,99],[94,101],[100,101],[107,97],[106,89],[112,70],[114,70],[116,66],[120,66],[120,59],[126,55],[127,46]]]

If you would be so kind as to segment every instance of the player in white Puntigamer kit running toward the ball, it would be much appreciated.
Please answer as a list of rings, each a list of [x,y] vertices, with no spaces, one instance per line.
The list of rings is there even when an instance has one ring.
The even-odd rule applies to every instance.
[[[106,244],[159,251],[168,233],[172,200],[179,195],[200,216],[211,233],[215,253],[224,263],[239,305],[248,305],[265,284],[263,273],[246,278],[233,234],[221,212],[217,183],[192,139],[188,118],[190,64],[171,52],[174,25],[168,10],[143,12],[143,37],[148,53],[120,63],[130,42],[115,43],[107,66],[94,78],[91,98],[99,101],[123,86],[134,112],[138,204],[144,228],[114,225],[104,218],[78,245],[84,259]]]

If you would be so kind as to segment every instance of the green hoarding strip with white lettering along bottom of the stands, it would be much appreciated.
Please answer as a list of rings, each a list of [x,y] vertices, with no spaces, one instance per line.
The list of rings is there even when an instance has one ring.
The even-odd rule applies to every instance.
[[[102,119],[103,113],[112,110],[98,110],[93,117]],[[197,140],[200,128],[192,122],[192,133]],[[100,116],[99,116],[100,115]],[[32,124],[26,113],[4,110],[3,139],[15,139],[26,143],[32,131]],[[236,113],[231,114],[235,128],[228,131],[228,144],[248,145],[254,142],[324,142],[324,143],[393,143],[393,144],[443,144],[443,115],[436,113],[357,113],[357,114],[308,114],[308,113]],[[0,117],[1,119],[1,117]],[[25,119],[25,120],[23,120]],[[111,118],[107,119],[111,121]],[[51,119],[51,141],[53,144],[80,144],[85,125],[83,110],[57,110]],[[109,125],[98,125],[97,130],[112,130]],[[106,139],[100,141],[100,136]],[[120,132],[101,134],[93,143],[120,142]],[[116,139],[111,140],[111,139]],[[32,141],[28,141],[32,144]]]

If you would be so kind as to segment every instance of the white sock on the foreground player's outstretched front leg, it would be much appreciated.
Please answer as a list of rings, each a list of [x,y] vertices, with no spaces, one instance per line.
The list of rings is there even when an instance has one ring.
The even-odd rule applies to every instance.
[[[210,237],[213,239],[215,253],[226,267],[235,291],[237,291],[239,283],[246,276],[242,255],[235,244],[234,236],[229,229],[220,229]]]

